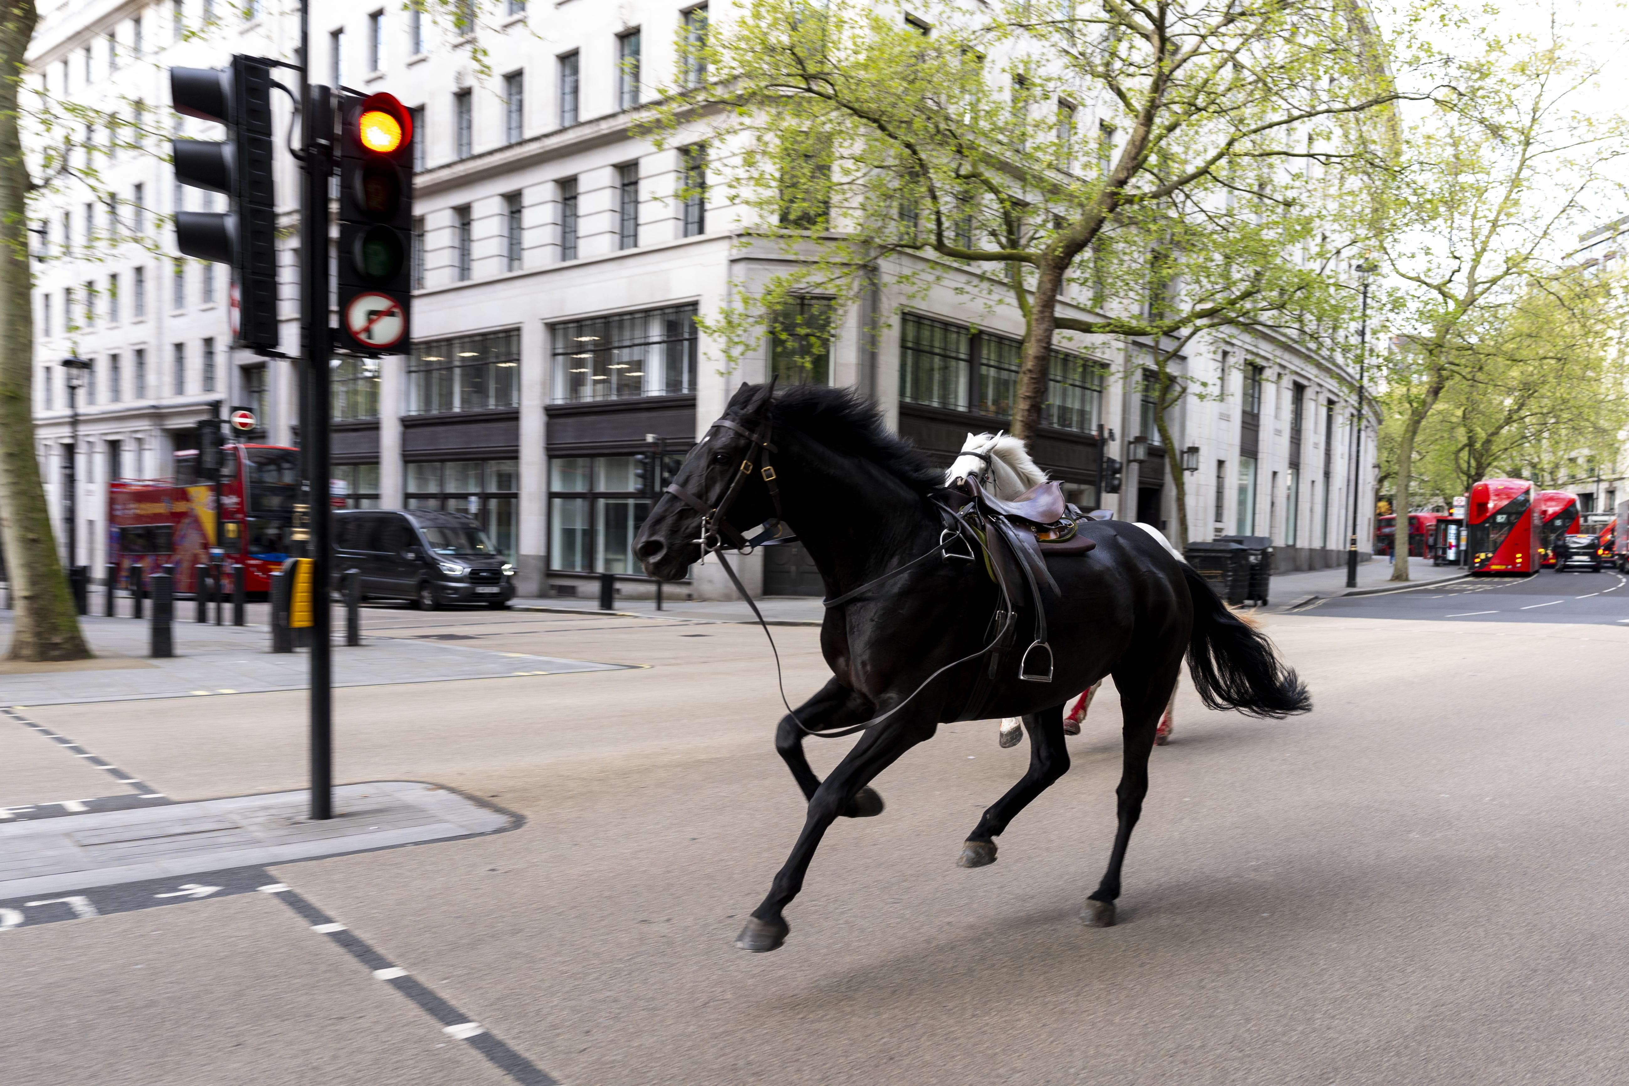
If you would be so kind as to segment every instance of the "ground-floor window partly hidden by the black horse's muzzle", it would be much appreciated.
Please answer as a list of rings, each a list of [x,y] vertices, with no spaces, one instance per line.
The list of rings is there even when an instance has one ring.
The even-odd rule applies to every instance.
[[[678,472],[683,456],[572,456],[549,461],[549,568],[564,573],[639,573],[634,534],[652,495]]]

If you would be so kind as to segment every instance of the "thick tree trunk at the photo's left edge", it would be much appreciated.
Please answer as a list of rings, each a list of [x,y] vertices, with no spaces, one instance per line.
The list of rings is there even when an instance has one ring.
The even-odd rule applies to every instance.
[[[34,456],[34,306],[28,267],[28,163],[18,132],[23,55],[34,34],[33,0],[0,15],[0,539],[11,585],[10,659],[85,659],[73,596],[50,531]]]

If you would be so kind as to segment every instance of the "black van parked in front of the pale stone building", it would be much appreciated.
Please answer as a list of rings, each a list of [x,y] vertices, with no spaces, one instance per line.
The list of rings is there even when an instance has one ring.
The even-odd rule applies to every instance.
[[[481,521],[433,510],[334,510],[334,588],[362,573],[363,599],[411,599],[420,611],[515,598],[515,567]]]

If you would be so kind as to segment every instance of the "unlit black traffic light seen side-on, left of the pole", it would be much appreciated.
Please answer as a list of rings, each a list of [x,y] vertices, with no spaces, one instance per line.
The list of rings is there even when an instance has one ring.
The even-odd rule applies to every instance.
[[[272,186],[272,65],[171,68],[176,112],[226,125],[226,140],[171,140],[176,181],[223,192],[226,212],[176,212],[186,256],[231,265],[233,347],[277,348],[277,195]]]

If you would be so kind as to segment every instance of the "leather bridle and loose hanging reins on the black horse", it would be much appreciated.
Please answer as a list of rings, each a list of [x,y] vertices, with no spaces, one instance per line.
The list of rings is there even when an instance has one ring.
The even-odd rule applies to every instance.
[[[968,656],[963,656],[961,659],[953,659],[951,663],[945,664],[943,668],[940,668],[938,671],[935,671],[933,674],[930,674],[927,679],[924,679],[920,682],[920,685],[917,685],[915,690],[912,690],[902,702],[899,702],[899,705],[894,705],[891,710],[888,710],[881,716],[873,716],[872,720],[867,720],[867,721],[858,723],[858,725],[852,725],[849,728],[834,728],[834,729],[816,729],[816,728],[810,728],[808,725],[805,725],[798,718],[797,710],[792,708],[792,702],[787,700],[787,685],[785,685],[785,677],[784,677],[782,668],[780,668],[780,650],[775,646],[775,637],[769,632],[769,622],[764,620],[764,614],[757,609],[757,602],[753,599],[753,594],[746,591],[746,585],[741,583],[741,578],[735,575],[735,568],[723,557],[723,550],[725,550],[723,537],[725,536],[730,537],[731,544],[735,545],[736,552],[740,552],[740,554],[751,554],[753,549],[754,549],[753,542],[748,541],[746,536],[743,536],[740,531],[736,531],[736,528],[733,524],[730,524],[727,519],[723,519],[725,513],[728,513],[730,506],[735,505],[735,500],[741,493],[741,488],[744,487],[746,480],[753,477],[754,469],[757,471],[757,475],[764,480],[764,487],[769,490],[769,498],[771,498],[771,501],[775,506],[775,521],[777,523],[780,521],[780,485],[775,482],[775,469],[769,462],[769,454],[771,453],[779,453],[779,449],[774,444],[771,444],[771,441],[769,441],[769,438],[771,438],[771,427],[772,427],[772,423],[769,420],[769,412],[766,409],[766,412],[764,412],[764,422],[757,428],[757,433],[753,433],[746,427],[743,427],[738,422],[733,422],[730,418],[718,418],[718,420],[715,420],[712,423],[712,427],[707,427],[707,430],[712,431],[715,427],[723,427],[727,430],[735,430],[736,433],[740,433],[741,436],[744,436],[748,441],[751,441],[751,448],[749,448],[746,458],[741,461],[740,469],[735,472],[735,477],[730,480],[730,487],[725,490],[723,498],[718,500],[718,505],[709,508],[705,501],[702,501],[700,498],[697,498],[694,493],[691,493],[689,490],[686,490],[684,487],[681,487],[676,482],[668,484],[663,490],[666,493],[671,493],[674,498],[678,498],[684,505],[691,506],[697,513],[700,513],[700,516],[702,516],[700,539],[697,539],[696,542],[702,549],[702,557],[705,558],[705,555],[712,554],[715,558],[718,558],[718,565],[723,567],[725,575],[730,578],[730,585],[733,585],[735,591],[740,593],[741,599],[746,601],[746,606],[751,607],[751,611],[753,611],[753,617],[757,619],[759,628],[764,630],[764,637],[769,640],[769,651],[775,658],[775,685],[780,690],[780,703],[785,705],[787,715],[792,716],[792,721],[803,731],[803,734],[806,734],[806,736],[819,736],[821,739],[841,739],[842,736],[852,736],[857,731],[867,731],[870,728],[875,728],[876,725],[883,723],[885,720],[888,720],[889,716],[893,716],[894,713],[898,713],[899,710],[902,710],[912,700],[915,700],[915,697],[922,690],[925,690],[927,685],[930,682],[933,682],[933,679],[940,677],[942,674],[945,674],[951,668],[958,668],[961,664],[973,663],[974,659],[979,659],[982,656],[989,656],[995,648],[1000,646],[1002,640],[1007,637],[1008,627],[1018,620],[1018,615],[1016,615],[1016,612],[1013,609],[1012,593],[1008,591],[1005,578],[997,576],[995,578],[995,585],[997,585],[997,588],[1002,593],[1002,609],[999,612],[1002,620],[1000,620],[1000,624],[997,624],[994,637],[990,638],[990,642],[987,645],[984,645],[984,648],[981,648],[981,650],[977,650],[974,653],[969,653]],[[974,456],[981,456],[981,454],[974,453]],[[986,462],[987,462],[987,458],[986,458]],[[702,472],[702,479],[704,480],[707,477],[705,472],[710,467],[712,466],[709,464],[709,467],[704,469],[704,472]],[[989,545],[986,544],[984,536],[981,532],[974,531],[973,526],[968,524],[966,519],[961,516],[961,513],[958,513],[956,510],[946,506],[938,498],[933,498],[932,501],[933,501],[935,506],[938,506],[942,516],[948,515],[950,519],[955,523],[955,526],[946,526],[946,528],[943,528],[940,531],[940,534],[938,534],[938,544],[932,550],[929,550],[929,552],[925,552],[925,554],[912,558],[911,562],[906,562],[904,565],[894,567],[888,573],[883,573],[881,576],[878,576],[875,580],[870,580],[870,581],[860,585],[858,588],[849,589],[847,593],[844,593],[842,596],[837,596],[836,599],[823,599],[821,604],[824,607],[839,607],[839,606],[852,601],[860,593],[863,593],[863,591],[867,591],[870,588],[875,588],[876,585],[881,585],[883,581],[893,580],[894,576],[899,576],[906,570],[915,568],[922,562],[927,562],[929,558],[932,558],[935,554],[940,558],[946,560],[946,562],[950,562],[950,560],[955,560],[955,562],[976,562],[977,558],[973,554],[973,547],[971,547],[971,544],[968,544],[968,534],[969,532],[971,532],[973,539],[977,541],[979,549],[984,552],[986,563],[994,568],[995,562],[994,562],[994,558],[992,558],[992,555],[989,552]],[[959,539],[963,542],[963,545],[966,547],[966,554],[956,552],[956,550],[950,550],[950,545],[951,545],[951,542],[955,539]],[[782,537],[782,541],[785,541],[785,539]],[[1036,607],[1043,606],[1039,593],[1034,594],[1034,604],[1036,604]]]

